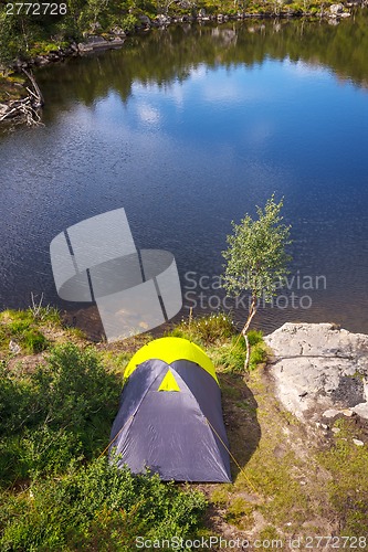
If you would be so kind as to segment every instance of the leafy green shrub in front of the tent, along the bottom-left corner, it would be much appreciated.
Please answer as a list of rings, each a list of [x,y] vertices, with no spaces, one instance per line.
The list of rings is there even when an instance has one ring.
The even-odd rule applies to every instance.
[[[134,476],[101,458],[6,501],[0,549],[132,552],[137,535],[192,535],[206,506],[200,492],[162,484],[157,475]]]

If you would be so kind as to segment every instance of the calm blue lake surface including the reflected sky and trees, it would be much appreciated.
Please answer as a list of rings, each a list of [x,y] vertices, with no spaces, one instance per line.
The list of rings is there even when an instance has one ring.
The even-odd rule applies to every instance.
[[[231,220],[275,192],[291,289],[256,325],[368,332],[367,22],[186,25],[39,70],[45,126],[0,135],[0,306],[75,309],[49,244],[124,206],[138,247],[176,256],[186,306],[215,310]]]

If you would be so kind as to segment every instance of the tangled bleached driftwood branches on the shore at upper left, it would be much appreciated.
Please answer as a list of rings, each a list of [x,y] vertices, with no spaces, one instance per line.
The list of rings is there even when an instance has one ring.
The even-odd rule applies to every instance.
[[[27,123],[27,125],[41,125],[39,109],[44,100],[39,85],[32,73],[22,70],[31,83],[32,88],[25,87],[28,96],[21,99],[11,99],[7,104],[0,104],[0,123],[4,120],[15,120],[17,123]]]

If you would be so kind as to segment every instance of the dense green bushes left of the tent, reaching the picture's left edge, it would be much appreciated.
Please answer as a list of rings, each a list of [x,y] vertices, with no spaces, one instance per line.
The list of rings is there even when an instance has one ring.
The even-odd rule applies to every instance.
[[[61,473],[108,442],[122,382],[91,349],[55,347],[46,365],[0,370],[0,485]]]

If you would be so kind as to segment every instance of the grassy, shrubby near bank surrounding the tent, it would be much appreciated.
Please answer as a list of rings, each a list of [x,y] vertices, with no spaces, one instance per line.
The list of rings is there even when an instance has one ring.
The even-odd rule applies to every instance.
[[[296,535],[368,537],[368,453],[353,443],[355,422],[336,422],[328,437],[285,412],[259,332],[244,380],[244,346],[224,315],[183,320],[170,335],[215,364],[233,484],[162,484],[101,456],[125,367],[149,335],[93,344],[53,309],[0,315],[0,550],[132,552],[137,535],[284,548]]]

